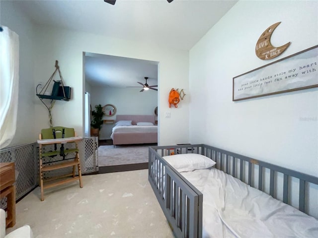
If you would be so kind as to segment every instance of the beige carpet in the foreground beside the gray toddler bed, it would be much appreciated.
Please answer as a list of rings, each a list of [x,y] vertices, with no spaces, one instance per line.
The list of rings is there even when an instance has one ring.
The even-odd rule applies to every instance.
[[[35,238],[172,238],[148,182],[148,170],[83,176],[79,183],[40,189],[16,204],[16,225]]]

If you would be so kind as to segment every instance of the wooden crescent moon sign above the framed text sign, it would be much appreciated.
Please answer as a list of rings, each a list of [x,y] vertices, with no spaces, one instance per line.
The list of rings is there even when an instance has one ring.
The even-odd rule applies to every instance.
[[[280,47],[274,47],[270,43],[270,38],[275,30],[275,28],[280,24],[281,22],[277,22],[270,27],[268,27],[258,38],[258,41],[256,43],[255,47],[255,53],[256,56],[261,60],[271,60],[275,57],[278,57],[280,54],[282,54],[290,45],[290,42],[287,44],[280,46]]]

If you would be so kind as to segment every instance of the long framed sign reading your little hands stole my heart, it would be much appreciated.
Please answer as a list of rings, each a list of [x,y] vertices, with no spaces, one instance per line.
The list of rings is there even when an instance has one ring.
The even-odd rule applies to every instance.
[[[318,87],[318,45],[233,78],[233,101]]]

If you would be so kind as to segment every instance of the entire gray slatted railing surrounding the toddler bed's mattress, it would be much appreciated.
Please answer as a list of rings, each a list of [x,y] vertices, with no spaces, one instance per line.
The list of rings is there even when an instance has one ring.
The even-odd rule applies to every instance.
[[[311,215],[308,209],[309,187],[310,184],[318,184],[317,177],[205,144],[150,147],[149,182],[176,237],[202,237],[203,195],[163,160],[163,156],[171,153],[205,155],[216,162],[216,169]],[[289,199],[291,181],[294,178],[298,179],[299,183],[298,194],[293,192],[296,193],[296,197],[298,196],[296,205]],[[293,183],[295,183],[294,180]],[[281,199],[278,195],[279,191],[283,193]],[[317,203],[317,199],[315,201]]]

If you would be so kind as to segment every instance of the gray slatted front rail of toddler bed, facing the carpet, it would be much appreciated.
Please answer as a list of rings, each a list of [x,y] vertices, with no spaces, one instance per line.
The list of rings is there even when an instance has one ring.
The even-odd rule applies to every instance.
[[[202,193],[149,148],[149,182],[176,237],[202,237]],[[159,148],[159,147],[156,147]]]

